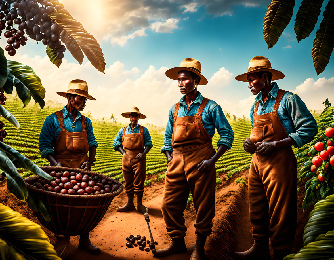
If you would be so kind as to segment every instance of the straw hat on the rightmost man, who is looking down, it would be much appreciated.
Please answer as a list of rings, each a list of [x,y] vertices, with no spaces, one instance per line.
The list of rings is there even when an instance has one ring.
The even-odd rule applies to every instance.
[[[249,61],[247,72],[236,76],[235,79],[238,81],[248,82],[247,74],[259,71],[271,72],[273,74],[272,81],[280,80],[285,77],[285,75],[282,72],[272,69],[271,63],[268,58],[264,56],[256,56],[252,58],[251,61]]]

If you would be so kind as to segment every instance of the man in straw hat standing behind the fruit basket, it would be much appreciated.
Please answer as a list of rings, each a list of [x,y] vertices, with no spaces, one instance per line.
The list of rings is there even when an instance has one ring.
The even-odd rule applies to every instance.
[[[67,99],[67,105],[44,120],[39,136],[41,157],[51,166],[91,170],[98,143],[92,121],[80,112],[85,109],[87,99],[96,99],[88,94],[87,83],[83,80],[72,80],[67,92],[57,94]],[[91,243],[89,233],[80,235],[79,248],[92,254],[100,253]]]

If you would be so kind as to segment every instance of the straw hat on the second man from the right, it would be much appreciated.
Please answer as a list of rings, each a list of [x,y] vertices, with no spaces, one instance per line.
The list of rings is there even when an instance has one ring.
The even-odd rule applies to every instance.
[[[166,71],[166,76],[172,80],[177,80],[179,71],[192,71],[201,79],[198,85],[208,84],[208,80],[201,74],[201,63],[197,59],[186,58],[182,60],[179,67]]]

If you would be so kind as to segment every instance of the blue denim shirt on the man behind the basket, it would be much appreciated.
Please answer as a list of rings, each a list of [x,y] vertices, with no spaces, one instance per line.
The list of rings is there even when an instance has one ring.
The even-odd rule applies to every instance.
[[[82,131],[82,121],[81,114],[77,111],[77,116],[75,120],[73,120],[73,116],[66,109],[66,106],[63,108],[63,117],[64,117],[64,127],[68,132],[81,132]],[[95,140],[92,121],[86,117],[86,131],[87,131],[87,139],[88,146],[98,147],[98,143]],[[44,124],[41,129],[41,133],[39,135],[39,150],[41,151],[41,157],[45,158],[46,155],[51,153],[54,154],[53,147],[56,143],[56,140],[60,133],[60,125],[57,118],[56,113],[49,115],[44,120]]]

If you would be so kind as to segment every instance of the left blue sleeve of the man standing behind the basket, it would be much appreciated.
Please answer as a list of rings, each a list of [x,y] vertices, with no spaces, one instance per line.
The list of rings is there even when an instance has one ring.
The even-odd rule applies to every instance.
[[[40,135],[38,148],[41,152],[41,157],[45,158],[48,154],[54,154],[54,122],[51,116],[45,118]]]

